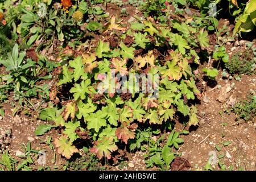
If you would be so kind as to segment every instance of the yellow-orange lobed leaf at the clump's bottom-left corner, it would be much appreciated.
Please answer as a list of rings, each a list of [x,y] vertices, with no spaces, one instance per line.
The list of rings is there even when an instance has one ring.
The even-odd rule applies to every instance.
[[[73,153],[79,152],[75,146],[72,146],[72,142],[67,137],[61,136],[59,139],[55,139],[54,143],[58,148],[57,152],[67,159],[70,159]]]

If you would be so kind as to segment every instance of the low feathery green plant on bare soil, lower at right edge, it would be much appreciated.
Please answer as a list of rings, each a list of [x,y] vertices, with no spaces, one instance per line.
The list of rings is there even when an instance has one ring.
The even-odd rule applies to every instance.
[[[247,100],[240,101],[232,107],[232,111],[237,115],[237,120],[249,121],[256,117],[256,96],[250,94]]]

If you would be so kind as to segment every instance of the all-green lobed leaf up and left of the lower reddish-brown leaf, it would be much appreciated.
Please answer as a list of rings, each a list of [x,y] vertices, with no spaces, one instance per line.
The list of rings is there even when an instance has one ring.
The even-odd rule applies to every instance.
[[[106,113],[98,110],[96,113],[91,113],[86,118],[87,128],[94,129],[96,132],[100,131],[102,126],[106,126]]]

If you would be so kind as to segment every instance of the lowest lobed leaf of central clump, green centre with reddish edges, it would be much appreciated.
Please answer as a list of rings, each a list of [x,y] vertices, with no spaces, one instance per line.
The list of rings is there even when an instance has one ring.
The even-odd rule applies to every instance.
[[[113,142],[113,137],[104,137],[94,142],[94,146],[90,148],[90,151],[96,154],[98,159],[101,159],[103,156],[111,159],[111,152],[116,150],[117,146]]]

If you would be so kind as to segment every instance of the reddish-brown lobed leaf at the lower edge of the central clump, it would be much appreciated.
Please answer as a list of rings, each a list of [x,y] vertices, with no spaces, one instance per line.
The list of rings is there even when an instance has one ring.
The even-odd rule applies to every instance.
[[[118,139],[121,139],[125,144],[127,144],[128,139],[133,139],[135,137],[135,129],[137,129],[138,125],[133,123],[130,125],[129,122],[121,122],[121,126],[115,131]]]

